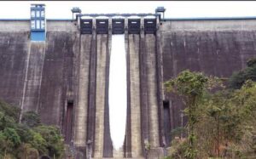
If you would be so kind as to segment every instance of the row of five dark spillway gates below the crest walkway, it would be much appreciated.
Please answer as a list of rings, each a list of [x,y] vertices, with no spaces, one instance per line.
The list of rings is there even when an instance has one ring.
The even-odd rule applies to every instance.
[[[84,18],[86,17],[86,18]],[[105,17],[105,18],[102,18]],[[136,17],[136,18],[135,18]],[[150,17],[150,18],[149,18]],[[78,14],[81,34],[155,34],[160,14]]]

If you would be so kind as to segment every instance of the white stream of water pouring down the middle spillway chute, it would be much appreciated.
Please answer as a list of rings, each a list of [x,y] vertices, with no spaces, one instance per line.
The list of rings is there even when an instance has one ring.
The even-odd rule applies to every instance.
[[[125,140],[127,86],[125,36],[113,35],[109,71],[109,122],[113,148],[119,150]]]

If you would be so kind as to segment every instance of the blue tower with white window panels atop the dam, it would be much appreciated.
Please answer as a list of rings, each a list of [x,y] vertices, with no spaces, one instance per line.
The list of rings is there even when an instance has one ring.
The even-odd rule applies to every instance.
[[[44,4],[31,4],[31,40],[45,41],[45,8]]]

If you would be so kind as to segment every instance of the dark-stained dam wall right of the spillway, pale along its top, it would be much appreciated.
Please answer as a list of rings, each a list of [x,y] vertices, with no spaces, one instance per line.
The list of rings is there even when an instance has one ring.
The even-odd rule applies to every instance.
[[[256,20],[166,21],[160,26],[164,81],[180,71],[203,71],[207,75],[230,77],[256,57]],[[172,100],[172,129],[181,126],[183,105]]]

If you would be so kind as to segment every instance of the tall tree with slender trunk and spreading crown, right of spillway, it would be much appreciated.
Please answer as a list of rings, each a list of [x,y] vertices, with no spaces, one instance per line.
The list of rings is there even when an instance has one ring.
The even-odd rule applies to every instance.
[[[188,116],[189,149],[186,149],[188,158],[195,158],[195,123],[198,122],[197,109],[199,101],[207,88],[208,78],[202,73],[182,71],[178,76],[165,83],[166,90],[181,96]]]

